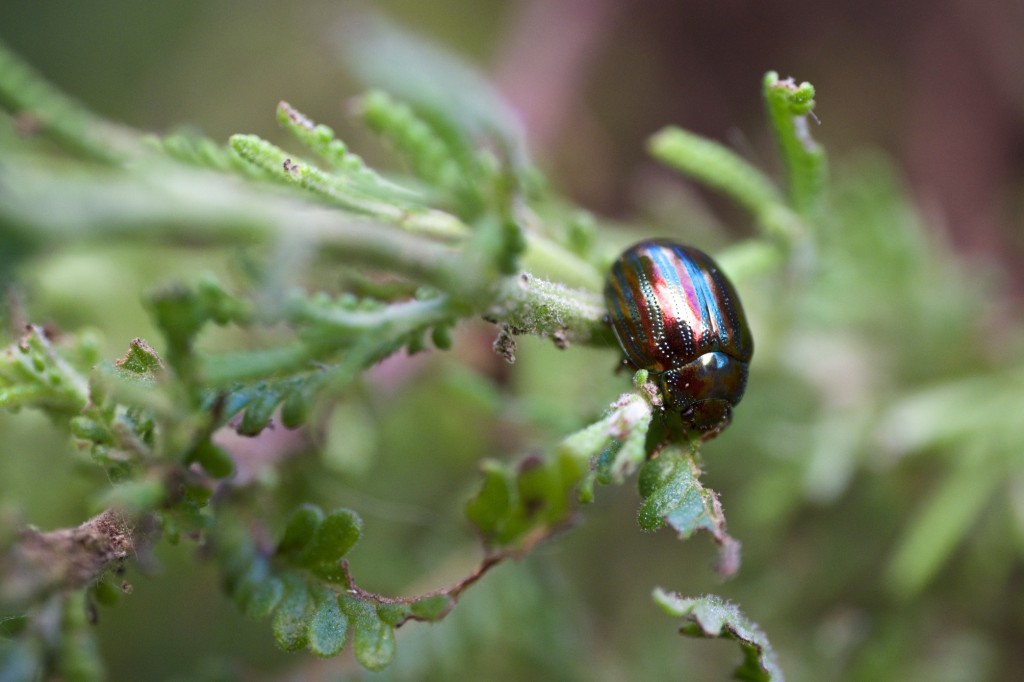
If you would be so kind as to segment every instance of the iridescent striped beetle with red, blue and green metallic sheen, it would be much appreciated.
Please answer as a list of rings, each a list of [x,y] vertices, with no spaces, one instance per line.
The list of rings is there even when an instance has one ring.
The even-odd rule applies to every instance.
[[[708,439],[728,426],[754,339],[736,290],[710,256],[640,242],[612,264],[604,303],[627,360],[651,373],[688,430]]]

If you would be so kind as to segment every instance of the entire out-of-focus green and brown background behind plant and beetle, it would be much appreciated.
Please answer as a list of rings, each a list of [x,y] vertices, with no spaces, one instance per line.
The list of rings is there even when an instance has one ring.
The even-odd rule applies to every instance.
[[[286,99],[386,165],[346,113],[365,86],[344,47],[371,7],[493,77],[570,198],[634,235],[712,251],[753,233],[750,218],[657,168],[644,140],[678,124],[771,169],[762,75],[817,87],[829,213],[809,274],[739,283],[758,352],[734,426],[706,452],[742,568],[718,583],[707,539],[642,535],[632,486],[602,488],[579,527],[501,566],[443,623],[403,628],[395,663],[370,674],[347,655],[276,651],[194,548],[161,546],[100,613],[111,679],[726,679],[734,645],[680,638],[649,599],[656,585],[738,603],[791,680],[1012,679],[1024,666],[1020,3],[10,2],[0,38],[133,127],[282,141]],[[228,260],[66,248],[14,272],[36,317],[97,328],[112,357],[155,337],[139,291]],[[368,589],[464,574],[476,461],[550,446],[628,387],[613,348],[523,340],[509,368],[494,334],[468,326],[450,353],[384,364],[375,381],[392,390],[325,407],[324,447],[274,474],[283,508],[312,498],[364,516],[353,565]],[[32,414],[0,416],[0,433],[4,503],[41,527],[79,522],[103,485],[94,467],[70,465]]]

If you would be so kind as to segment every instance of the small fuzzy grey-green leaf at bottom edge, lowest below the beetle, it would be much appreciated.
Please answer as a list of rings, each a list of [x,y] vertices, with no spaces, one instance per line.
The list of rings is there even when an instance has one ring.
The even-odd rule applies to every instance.
[[[684,635],[737,642],[743,652],[743,662],[733,673],[737,680],[782,682],[782,671],[768,637],[735,605],[715,595],[688,599],[660,588],[654,590],[654,601],[669,615],[685,619],[679,629]]]

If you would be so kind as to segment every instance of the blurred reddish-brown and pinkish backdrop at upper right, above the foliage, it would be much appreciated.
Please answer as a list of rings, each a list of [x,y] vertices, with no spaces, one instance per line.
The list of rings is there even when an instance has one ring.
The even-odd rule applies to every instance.
[[[615,169],[642,164],[643,138],[668,123],[740,147],[760,136],[755,85],[774,69],[822,93],[815,134],[834,156],[898,157],[952,244],[1024,285],[1024,4],[515,4],[495,72],[540,148],[570,177],[596,170],[577,187],[589,201],[621,206]]]

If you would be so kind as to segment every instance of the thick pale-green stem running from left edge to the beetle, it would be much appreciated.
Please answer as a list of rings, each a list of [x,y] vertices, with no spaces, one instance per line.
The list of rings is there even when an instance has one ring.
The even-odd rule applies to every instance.
[[[508,318],[517,329],[566,333],[570,341],[584,343],[604,338],[604,309],[596,294],[539,278],[494,280],[482,264],[453,246],[273,191],[253,190],[219,173],[159,164],[132,174],[79,174],[19,163],[18,172],[5,178],[0,183],[0,220],[39,242],[91,238],[238,247],[305,241],[338,262],[377,267],[436,287],[469,309],[498,322]],[[551,247],[546,240],[531,240],[535,254]],[[551,253],[557,256],[557,251]],[[552,267],[557,261],[548,259]],[[577,269],[582,279],[597,279],[582,261]]]

